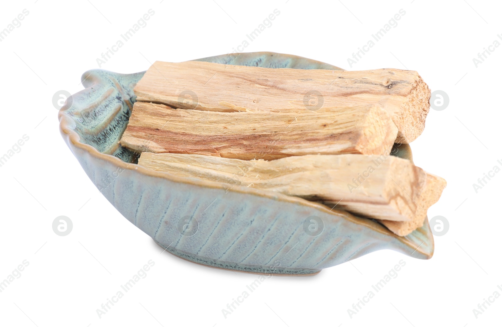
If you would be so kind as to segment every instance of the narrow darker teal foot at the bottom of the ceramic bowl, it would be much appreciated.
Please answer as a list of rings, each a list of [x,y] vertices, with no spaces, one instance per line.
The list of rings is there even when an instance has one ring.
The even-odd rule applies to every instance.
[[[180,251],[170,246],[166,247],[164,244],[159,243],[156,240],[154,241],[155,243],[157,243],[157,245],[162,247],[166,252],[169,252],[181,259],[211,268],[224,269],[237,272],[247,272],[259,275],[276,275],[276,276],[312,276],[312,275],[317,275],[322,270],[322,269],[310,269],[310,268],[282,267],[281,262],[279,260],[277,260],[276,262],[274,262],[274,264],[270,266],[246,265],[241,263],[216,260]]]

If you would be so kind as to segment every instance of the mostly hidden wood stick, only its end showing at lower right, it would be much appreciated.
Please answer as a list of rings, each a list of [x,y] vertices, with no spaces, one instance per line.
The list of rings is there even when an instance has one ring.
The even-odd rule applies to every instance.
[[[441,193],[446,187],[446,181],[439,176],[427,173],[427,180],[424,189],[423,196],[420,196],[421,201],[418,204],[419,214],[415,215],[415,218],[411,221],[391,221],[391,220],[380,220],[380,222],[389,228],[394,234],[399,236],[406,236],[413,232],[415,229],[422,227],[424,224],[424,218],[427,215],[427,209],[435,204]]]

